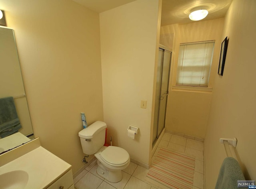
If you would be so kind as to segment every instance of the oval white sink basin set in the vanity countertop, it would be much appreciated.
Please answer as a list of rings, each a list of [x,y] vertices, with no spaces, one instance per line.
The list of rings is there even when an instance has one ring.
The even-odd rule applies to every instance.
[[[16,170],[0,175],[1,189],[23,189],[28,183],[28,173]]]

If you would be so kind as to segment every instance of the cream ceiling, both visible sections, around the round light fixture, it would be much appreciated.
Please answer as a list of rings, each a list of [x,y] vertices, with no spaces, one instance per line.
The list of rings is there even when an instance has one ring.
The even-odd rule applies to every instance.
[[[98,13],[116,8],[135,0],[73,0]],[[161,26],[169,24],[191,23],[188,18],[190,10],[198,6],[208,7],[208,16],[204,20],[212,20],[225,16],[232,0],[162,0]]]

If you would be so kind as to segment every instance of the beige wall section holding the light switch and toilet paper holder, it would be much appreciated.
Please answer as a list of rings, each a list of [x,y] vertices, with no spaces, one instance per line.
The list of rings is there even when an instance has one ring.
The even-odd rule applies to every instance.
[[[149,163],[158,0],[137,0],[100,13],[104,121],[114,146]],[[147,100],[147,108],[140,108]],[[129,125],[139,127],[135,140]]]

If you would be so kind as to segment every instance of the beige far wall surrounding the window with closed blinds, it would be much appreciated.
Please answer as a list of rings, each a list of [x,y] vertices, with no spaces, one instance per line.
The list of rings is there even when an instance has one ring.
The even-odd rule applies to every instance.
[[[219,63],[223,18],[178,26],[175,35],[175,25],[161,28],[162,35],[167,31],[174,32],[174,54],[166,109],[166,130],[180,132],[191,136],[204,138],[212,98],[211,91],[192,91],[190,89],[173,89],[176,84],[176,69],[180,43],[215,40],[211,74],[208,88],[213,87]],[[166,34],[165,34],[166,36]],[[190,87],[191,88],[191,87]],[[184,118],[184,115],[186,118]]]

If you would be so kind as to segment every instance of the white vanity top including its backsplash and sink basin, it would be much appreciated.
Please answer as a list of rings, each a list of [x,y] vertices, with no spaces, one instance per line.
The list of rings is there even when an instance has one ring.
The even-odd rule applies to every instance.
[[[0,155],[0,189],[48,188],[69,170],[73,181],[71,165],[40,146],[36,138]]]

